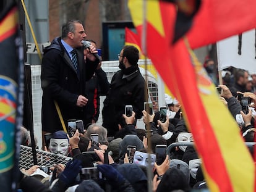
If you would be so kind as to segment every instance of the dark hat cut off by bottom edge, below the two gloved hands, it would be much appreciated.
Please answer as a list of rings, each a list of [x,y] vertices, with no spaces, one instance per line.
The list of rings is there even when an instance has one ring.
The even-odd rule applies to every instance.
[[[75,192],[104,192],[104,190],[93,180],[83,180],[79,186],[77,186]]]

